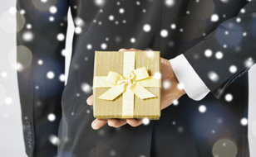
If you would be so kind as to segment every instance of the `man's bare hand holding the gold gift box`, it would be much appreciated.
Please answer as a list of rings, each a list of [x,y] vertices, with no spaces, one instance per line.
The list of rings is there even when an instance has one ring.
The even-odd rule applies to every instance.
[[[121,49],[119,51],[139,51],[135,49]],[[185,91],[178,87],[179,82],[177,78],[175,77],[175,73],[173,69],[171,68],[170,62],[167,59],[160,59],[161,64],[161,79],[162,79],[162,90],[161,90],[161,109],[165,109],[166,107],[169,107],[175,100],[179,99],[182,95],[185,94]],[[87,104],[93,105],[93,95],[91,95],[89,98],[87,98]],[[119,120],[119,119],[107,119],[107,120],[101,120],[101,119],[95,119],[91,123],[91,127],[93,129],[100,129],[101,126],[104,126],[105,124],[108,124],[108,126],[112,127],[120,127],[124,126],[127,123],[130,126],[140,126],[142,124],[142,120],[136,120],[132,118],[128,118],[125,120]]]

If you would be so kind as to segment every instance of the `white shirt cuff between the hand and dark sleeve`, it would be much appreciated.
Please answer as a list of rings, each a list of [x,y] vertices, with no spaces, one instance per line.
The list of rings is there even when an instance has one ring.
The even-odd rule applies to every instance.
[[[178,55],[169,61],[176,78],[184,85],[185,93],[190,98],[199,101],[209,93],[209,88],[204,84],[202,79],[199,78],[199,75],[195,73],[193,67],[184,55]]]

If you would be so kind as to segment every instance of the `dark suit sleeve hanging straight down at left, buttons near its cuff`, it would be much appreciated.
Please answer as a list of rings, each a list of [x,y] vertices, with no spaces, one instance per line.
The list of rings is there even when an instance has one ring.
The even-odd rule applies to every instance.
[[[17,0],[17,77],[28,156],[57,154],[68,6],[67,0]]]

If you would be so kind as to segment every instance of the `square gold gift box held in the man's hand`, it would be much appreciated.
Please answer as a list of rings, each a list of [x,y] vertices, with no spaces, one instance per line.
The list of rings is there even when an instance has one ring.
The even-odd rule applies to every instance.
[[[161,78],[159,51],[96,51],[94,61],[94,117],[98,119],[140,119],[146,117],[151,120],[158,120],[160,118]],[[104,94],[106,94],[105,98],[108,98],[107,91],[116,91],[115,89],[113,91],[110,89],[118,86],[107,81],[107,77],[111,75],[111,72],[113,72],[112,74],[120,74],[121,77],[127,78],[128,74],[131,76],[131,69],[134,69],[132,71],[137,73],[135,78],[140,78],[138,73],[144,74],[145,71],[147,71],[149,77],[142,78],[136,81],[135,85],[131,86],[127,85],[129,82],[129,79],[127,79],[127,81],[123,81],[126,82],[126,84],[123,84],[124,86],[119,85],[118,87],[118,90],[126,87],[126,92],[121,93],[112,100],[101,99],[101,96]],[[137,72],[135,71],[136,69],[138,69]],[[145,71],[142,72],[143,70]],[[131,82],[134,82],[134,80]],[[141,97],[144,97],[145,94],[140,94],[141,90],[133,90],[136,93],[130,92],[132,90],[129,87],[134,86],[136,86],[136,89],[139,86],[140,89],[143,89],[142,92],[152,93],[155,97],[142,99]],[[139,98],[138,95],[141,97]]]

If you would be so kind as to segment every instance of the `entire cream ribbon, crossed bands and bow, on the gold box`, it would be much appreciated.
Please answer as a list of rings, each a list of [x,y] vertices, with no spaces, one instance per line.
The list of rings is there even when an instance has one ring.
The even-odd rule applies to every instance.
[[[113,101],[123,95],[122,116],[134,115],[134,94],[140,99],[155,98],[146,87],[160,88],[158,78],[149,76],[145,67],[135,69],[135,51],[124,52],[123,75],[110,71],[107,76],[96,76],[94,88],[110,88],[100,99]]]

